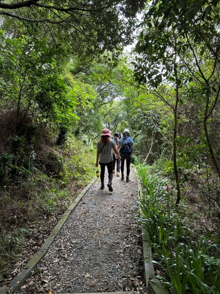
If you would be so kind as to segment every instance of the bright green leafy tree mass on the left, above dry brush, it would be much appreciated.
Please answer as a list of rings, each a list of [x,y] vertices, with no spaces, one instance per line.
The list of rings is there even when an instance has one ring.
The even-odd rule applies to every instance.
[[[37,31],[31,36],[20,33],[13,39],[1,31],[0,38],[1,104],[10,103],[11,109],[16,108],[11,113],[16,127],[12,133],[21,134],[30,120],[56,124],[62,136],[74,130],[79,120],[85,123],[96,94],[90,85],[72,77],[65,69],[65,60],[59,62],[57,57],[65,58],[65,49],[47,44]]]

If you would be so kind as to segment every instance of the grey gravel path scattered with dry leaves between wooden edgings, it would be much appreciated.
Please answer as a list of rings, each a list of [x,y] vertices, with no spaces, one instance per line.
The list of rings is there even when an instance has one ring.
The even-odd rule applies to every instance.
[[[109,192],[100,179],[89,189],[17,293],[136,291],[145,286],[137,181],[113,174]]]

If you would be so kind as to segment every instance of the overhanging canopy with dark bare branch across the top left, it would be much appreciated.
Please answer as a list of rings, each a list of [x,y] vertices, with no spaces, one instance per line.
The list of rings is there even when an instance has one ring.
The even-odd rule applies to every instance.
[[[94,56],[121,49],[132,40],[135,15],[144,0],[24,0],[0,2],[0,15],[37,24],[56,43],[71,43],[74,54]]]

